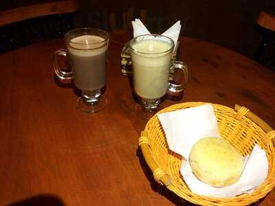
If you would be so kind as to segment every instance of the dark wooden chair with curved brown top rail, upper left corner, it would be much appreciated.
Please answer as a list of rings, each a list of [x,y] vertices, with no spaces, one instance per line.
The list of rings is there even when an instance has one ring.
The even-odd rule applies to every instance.
[[[76,0],[51,1],[0,12],[0,54],[51,38],[74,27]]]

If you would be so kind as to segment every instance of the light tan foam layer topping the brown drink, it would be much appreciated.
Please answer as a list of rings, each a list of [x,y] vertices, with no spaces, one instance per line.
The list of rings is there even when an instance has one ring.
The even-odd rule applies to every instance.
[[[77,56],[96,56],[107,51],[108,43],[104,38],[95,35],[83,35],[72,38],[68,49]]]

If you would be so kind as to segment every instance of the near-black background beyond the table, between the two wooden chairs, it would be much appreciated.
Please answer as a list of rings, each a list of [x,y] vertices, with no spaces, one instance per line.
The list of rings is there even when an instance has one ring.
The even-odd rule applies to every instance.
[[[48,1],[51,0],[1,1],[0,10]],[[123,14],[132,9],[138,18],[140,10],[145,10],[144,24],[152,33],[162,33],[181,20],[182,35],[228,47],[250,58],[254,58],[262,38],[256,26],[259,13],[263,10],[275,14],[274,0],[80,0],[79,4],[74,27],[111,30],[110,14],[115,14],[115,27],[131,30],[131,25],[123,23]]]

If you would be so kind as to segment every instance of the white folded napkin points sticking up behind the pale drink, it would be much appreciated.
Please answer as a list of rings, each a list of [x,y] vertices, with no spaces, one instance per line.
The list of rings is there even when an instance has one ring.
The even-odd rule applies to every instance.
[[[133,25],[133,37],[144,35],[144,34],[151,34],[147,30],[147,28],[144,26],[142,21],[140,21],[140,19],[135,19],[135,21],[132,21],[132,25]],[[180,24],[180,21],[177,21],[172,27],[166,30],[166,32],[162,33],[162,35],[171,38],[176,45],[177,39],[179,38],[180,30],[181,30],[181,24]]]

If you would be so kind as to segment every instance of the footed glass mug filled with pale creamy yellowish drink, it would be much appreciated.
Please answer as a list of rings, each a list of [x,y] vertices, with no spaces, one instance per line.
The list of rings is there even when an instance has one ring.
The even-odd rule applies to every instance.
[[[172,39],[157,35],[145,34],[130,41],[131,64],[133,67],[133,87],[140,98],[136,105],[137,115],[148,119],[159,107],[160,98],[166,92],[182,91],[188,81],[188,68],[184,62],[171,62],[175,47]],[[183,80],[176,84],[175,74],[180,70]],[[178,74],[178,73],[177,73]]]

